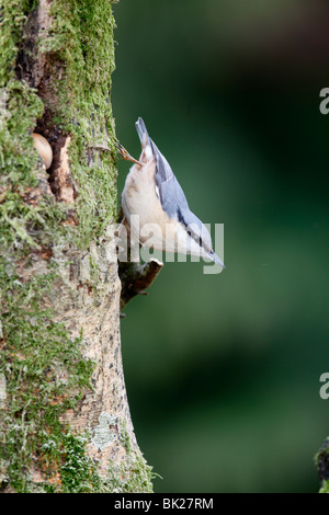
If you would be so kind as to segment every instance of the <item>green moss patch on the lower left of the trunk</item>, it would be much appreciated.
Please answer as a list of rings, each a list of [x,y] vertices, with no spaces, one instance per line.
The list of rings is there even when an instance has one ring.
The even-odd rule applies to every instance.
[[[1,458],[9,464],[7,478],[19,492],[26,491],[24,471],[35,457],[46,474],[56,471],[65,438],[59,415],[77,404],[93,370],[92,362],[81,358],[82,335],[71,341],[65,328],[52,321],[49,310],[41,308],[55,278],[53,272],[22,283],[0,260],[1,300],[5,305],[0,371],[10,399]]]

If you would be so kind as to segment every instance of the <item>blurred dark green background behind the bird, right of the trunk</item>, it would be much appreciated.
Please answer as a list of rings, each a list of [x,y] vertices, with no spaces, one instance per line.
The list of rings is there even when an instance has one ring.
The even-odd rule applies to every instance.
[[[329,434],[329,11],[309,0],[114,5],[113,110],[143,116],[225,263],[167,263],[122,321],[157,492],[316,492]],[[118,190],[129,164],[120,162]]]

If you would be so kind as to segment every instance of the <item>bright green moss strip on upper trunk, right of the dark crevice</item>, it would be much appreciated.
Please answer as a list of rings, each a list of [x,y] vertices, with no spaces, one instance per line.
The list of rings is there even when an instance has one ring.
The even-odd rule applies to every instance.
[[[39,52],[66,64],[65,80],[55,81],[58,103],[54,119],[71,136],[71,173],[79,187],[76,241],[86,247],[116,213],[114,122],[110,102],[114,71],[114,19],[109,1],[56,0],[49,37]],[[77,123],[79,121],[79,123]],[[109,147],[110,151],[97,149]],[[87,162],[86,150],[92,151]]]

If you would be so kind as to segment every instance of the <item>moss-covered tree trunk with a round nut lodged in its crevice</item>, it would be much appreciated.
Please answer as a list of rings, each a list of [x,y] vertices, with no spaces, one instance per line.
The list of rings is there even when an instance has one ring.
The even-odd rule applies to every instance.
[[[1,489],[150,492],[121,357],[111,2],[0,16]]]

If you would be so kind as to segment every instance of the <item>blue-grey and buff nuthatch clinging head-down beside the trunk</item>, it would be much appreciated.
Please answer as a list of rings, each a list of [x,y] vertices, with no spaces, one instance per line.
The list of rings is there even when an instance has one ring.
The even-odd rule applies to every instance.
[[[139,233],[132,230],[133,236],[156,250],[208,258],[225,267],[213,251],[208,230],[190,210],[182,187],[145,123],[139,117],[135,125],[141,144],[139,160],[118,144],[121,157],[134,162],[122,193],[122,208],[131,230],[133,215],[139,216]],[[143,232],[145,226],[158,228],[152,230],[151,244]]]

